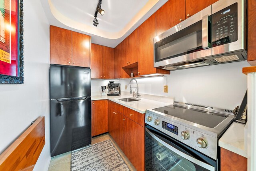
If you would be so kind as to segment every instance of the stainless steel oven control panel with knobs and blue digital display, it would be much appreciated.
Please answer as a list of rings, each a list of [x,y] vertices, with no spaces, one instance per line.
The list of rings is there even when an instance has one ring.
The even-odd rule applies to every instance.
[[[197,151],[217,159],[217,138],[148,112],[146,112],[145,123]]]

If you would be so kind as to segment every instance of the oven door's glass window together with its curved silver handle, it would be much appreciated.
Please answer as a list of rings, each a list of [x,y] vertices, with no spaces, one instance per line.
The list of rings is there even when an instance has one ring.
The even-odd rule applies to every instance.
[[[146,171],[215,171],[174,143],[160,137],[147,128],[145,131]]]

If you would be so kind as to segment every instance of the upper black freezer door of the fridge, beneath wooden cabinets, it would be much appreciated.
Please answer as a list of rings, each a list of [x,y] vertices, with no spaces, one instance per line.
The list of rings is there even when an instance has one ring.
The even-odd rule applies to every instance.
[[[50,66],[50,99],[91,96],[89,68]]]

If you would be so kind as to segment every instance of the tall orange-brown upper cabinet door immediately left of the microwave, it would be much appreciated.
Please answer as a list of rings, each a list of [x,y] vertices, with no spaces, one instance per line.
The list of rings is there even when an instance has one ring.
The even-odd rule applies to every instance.
[[[155,74],[153,39],[156,36],[156,13],[138,27],[139,75]]]

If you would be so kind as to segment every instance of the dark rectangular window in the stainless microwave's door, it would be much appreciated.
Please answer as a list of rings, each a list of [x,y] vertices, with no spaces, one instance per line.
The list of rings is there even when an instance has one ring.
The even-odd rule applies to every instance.
[[[204,50],[202,47],[202,20],[154,44],[155,62]]]

